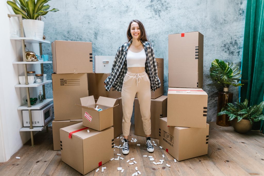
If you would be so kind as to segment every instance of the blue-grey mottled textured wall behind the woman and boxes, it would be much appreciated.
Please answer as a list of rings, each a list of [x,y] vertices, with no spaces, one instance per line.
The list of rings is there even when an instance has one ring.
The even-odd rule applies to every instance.
[[[214,59],[241,64],[246,0],[49,1],[58,12],[46,15],[47,40],[90,41],[95,55],[115,55],[127,41],[132,19],[142,21],[156,57],[164,58],[164,94],[168,89],[168,34],[199,31],[204,35],[204,75]],[[51,47],[43,45],[51,58]],[[44,64],[51,79],[52,64]],[[216,120],[217,94],[206,84],[208,121]],[[230,89],[235,93],[235,89]],[[46,87],[51,98],[52,88]],[[236,96],[234,96],[236,99]]]

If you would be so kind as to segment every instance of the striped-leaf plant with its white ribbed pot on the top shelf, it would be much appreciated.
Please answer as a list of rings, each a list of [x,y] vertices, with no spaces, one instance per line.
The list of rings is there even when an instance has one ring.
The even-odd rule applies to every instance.
[[[48,1],[50,0],[15,0],[16,3],[7,1],[15,14],[22,15],[26,37],[36,36],[37,39],[43,39],[44,22],[41,21],[41,16],[46,15],[48,12],[58,11],[56,8],[48,11],[50,6],[45,4]]]

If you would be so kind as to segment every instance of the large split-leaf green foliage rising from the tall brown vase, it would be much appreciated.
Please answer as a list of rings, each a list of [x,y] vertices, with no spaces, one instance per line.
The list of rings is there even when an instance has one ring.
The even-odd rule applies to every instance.
[[[221,90],[223,87],[229,87],[233,85],[235,87],[242,86],[242,83],[246,82],[246,80],[241,80],[241,70],[239,66],[234,64],[233,62],[225,63],[223,60],[215,59],[210,67],[210,74],[206,76],[207,78],[211,78],[213,83],[208,84],[211,88],[216,88],[217,90]]]

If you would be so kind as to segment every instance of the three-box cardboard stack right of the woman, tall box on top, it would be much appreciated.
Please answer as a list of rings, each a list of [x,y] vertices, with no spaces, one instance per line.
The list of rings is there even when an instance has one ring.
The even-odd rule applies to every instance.
[[[167,117],[160,118],[159,145],[178,161],[207,154],[207,97],[202,88],[203,35],[169,35]]]

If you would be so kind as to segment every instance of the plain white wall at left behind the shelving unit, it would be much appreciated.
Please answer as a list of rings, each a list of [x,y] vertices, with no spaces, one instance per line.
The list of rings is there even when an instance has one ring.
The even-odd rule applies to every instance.
[[[17,17],[8,18],[7,14],[14,14],[6,1],[0,1],[0,162],[5,162],[30,139],[30,132],[20,132],[23,127],[22,111],[17,107],[25,104],[26,89],[15,88],[19,84],[18,76],[24,75],[22,64],[12,64],[13,61],[22,61],[21,42],[11,41],[10,32],[19,31]],[[18,32],[20,34],[20,31]],[[38,44],[27,44],[29,50],[36,51]],[[31,65],[31,64],[30,64]],[[40,65],[28,66],[28,70],[40,73]],[[37,89],[30,88],[30,96],[37,97]]]

